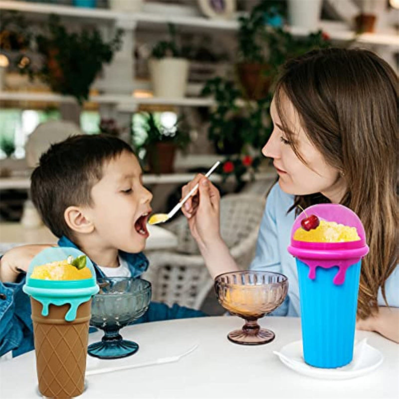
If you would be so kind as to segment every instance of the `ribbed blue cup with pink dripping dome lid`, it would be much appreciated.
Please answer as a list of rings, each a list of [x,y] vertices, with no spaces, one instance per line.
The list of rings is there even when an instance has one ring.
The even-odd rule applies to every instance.
[[[342,367],[353,358],[361,259],[369,247],[361,220],[346,206],[317,204],[306,213],[356,227],[360,237],[332,243],[294,240],[306,217],[302,212],[292,226],[288,247],[298,269],[304,360],[314,367]]]

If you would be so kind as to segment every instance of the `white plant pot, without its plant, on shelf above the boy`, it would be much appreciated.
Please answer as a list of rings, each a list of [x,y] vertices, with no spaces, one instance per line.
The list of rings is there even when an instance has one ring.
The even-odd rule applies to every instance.
[[[189,74],[187,59],[152,58],[149,68],[155,97],[182,98],[185,96]]]

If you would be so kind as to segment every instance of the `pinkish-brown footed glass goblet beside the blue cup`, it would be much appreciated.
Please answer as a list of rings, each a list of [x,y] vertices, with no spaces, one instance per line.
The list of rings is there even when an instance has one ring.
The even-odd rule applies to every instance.
[[[257,320],[283,303],[288,292],[286,276],[272,272],[236,271],[217,276],[214,287],[220,305],[245,320],[241,330],[228,333],[231,342],[261,345],[274,340],[273,331],[260,328]]]

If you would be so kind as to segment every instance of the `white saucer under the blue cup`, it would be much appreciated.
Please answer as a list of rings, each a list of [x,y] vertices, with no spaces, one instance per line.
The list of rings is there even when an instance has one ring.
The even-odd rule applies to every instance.
[[[325,380],[347,380],[363,376],[377,369],[384,360],[383,354],[370,346],[366,339],[355,345],[352,362],[336,369],[320,369],[306,364],[303,360],[302,341],[291,342],[282,347],[280,352],[273,353],[291,370]]]

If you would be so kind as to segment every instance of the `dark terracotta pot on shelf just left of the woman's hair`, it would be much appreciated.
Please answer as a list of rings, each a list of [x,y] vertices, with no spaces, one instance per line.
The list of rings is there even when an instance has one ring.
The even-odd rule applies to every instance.
[[[241,63],[237,65],[238,78],[247,98],[260,100],[267,96],[272,76],[266,75],[270,70],[267,64]]]

